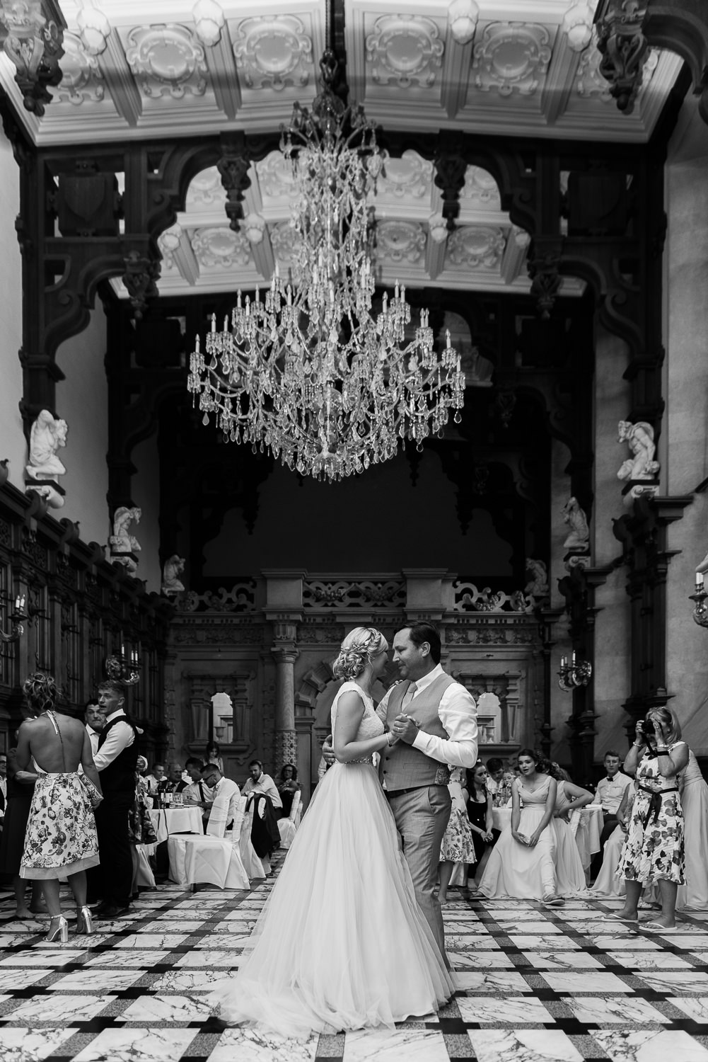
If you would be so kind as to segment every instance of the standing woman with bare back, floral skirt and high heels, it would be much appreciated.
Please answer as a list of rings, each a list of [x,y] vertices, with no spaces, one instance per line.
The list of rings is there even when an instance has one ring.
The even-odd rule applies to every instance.
[[[36,768],[32,806],[24,836],[20,877],[41,881],[51,918],[48,942],[68,940],[68,923],[62,914],[59,878],[67,877],[76,901],[76,932],[91,933],[86,906],[86,869],[99,862],[96,821],[89,790],[79,772],[101,796],[101,783],[93,766],[86,726],[77,719],[56,715],[58,691],[51,675],[31,674],[22,686],[33,719],[19,729],[17,767]]]

